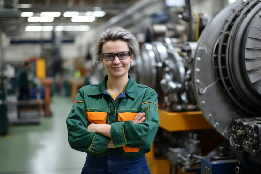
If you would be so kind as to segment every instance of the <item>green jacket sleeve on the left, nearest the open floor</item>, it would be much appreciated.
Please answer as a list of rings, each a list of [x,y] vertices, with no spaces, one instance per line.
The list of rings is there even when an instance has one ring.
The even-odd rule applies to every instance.
[[[104,153],[110,138],[87,131],[87,119],[82,88],[76,96],[76,102],[66,119],[70,146],[88,154]]]

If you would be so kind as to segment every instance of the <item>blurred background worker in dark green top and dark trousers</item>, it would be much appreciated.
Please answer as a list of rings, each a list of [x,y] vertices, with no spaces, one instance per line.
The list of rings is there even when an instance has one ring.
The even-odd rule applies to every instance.
[[[18,86],[19,86],[19,100],[28,100],[29,98],[29,81],[27,71],[30,69],[30,63],[25,62],[19,71]]]

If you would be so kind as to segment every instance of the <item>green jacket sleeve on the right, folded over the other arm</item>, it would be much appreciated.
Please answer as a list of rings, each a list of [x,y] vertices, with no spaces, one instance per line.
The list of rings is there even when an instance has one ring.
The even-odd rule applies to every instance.
[[[143,123],[133,124],[132,121],[111,124],[113,144],[133,148],[150,148],[159,127],[157,93],[148,89],[143,97],[141,112],[145,113]]]

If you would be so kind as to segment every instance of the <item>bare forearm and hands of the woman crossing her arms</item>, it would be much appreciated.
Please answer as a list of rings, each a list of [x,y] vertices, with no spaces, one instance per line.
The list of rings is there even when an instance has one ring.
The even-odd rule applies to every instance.
[[[133,119],[133,124],[143,123],[145,119],[146,119],[145,113],[138,113],[136,117]],[[111,125],[91,123],[90,125],[88,125],[87,130],[111,138]],[[120,147],[120,146],[114,146],[112,139],[110,139],[107,148],[116,148],[116,147]]]

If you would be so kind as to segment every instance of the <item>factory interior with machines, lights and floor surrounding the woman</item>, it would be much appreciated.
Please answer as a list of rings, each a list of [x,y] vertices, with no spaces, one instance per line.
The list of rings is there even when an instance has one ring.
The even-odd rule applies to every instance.
[[[140,45],[129,75],[158,96],[151,174],[260,173],[260,0],[0,0],[0,174],[81,173],[65,120],[119,26]]]

